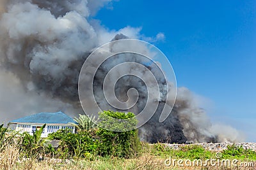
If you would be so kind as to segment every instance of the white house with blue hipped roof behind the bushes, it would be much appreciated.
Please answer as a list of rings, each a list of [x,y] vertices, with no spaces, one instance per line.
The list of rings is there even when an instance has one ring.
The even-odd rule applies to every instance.
[[[40,129],[42,125],[46,124],[44,131],[42,132],[42,138],[46,138],[48,134],[57,132],[59,129],[70,129],[75,132],[76,122],[65,115],[65,113],[59,111],[55,113],[37,113],[28,117],[18,118],[12,120],[10,124],[15,125],[15,130],[20,132],[29,132],[33,134],[36,129]]]

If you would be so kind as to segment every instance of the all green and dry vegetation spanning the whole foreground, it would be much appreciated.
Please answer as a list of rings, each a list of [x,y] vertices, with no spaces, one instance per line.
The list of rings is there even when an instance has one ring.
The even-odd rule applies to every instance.
[[[81,117],[84,115],[77,120],[86,120]],[[131,128],[138,124],[132,113],[99,113],[100,124],[108,124],[111,118],[128,120],[128,124],[121,125],[112,122],[113,129]],[[85,122],[89,124],[80,126],[84,121],[77,121],[77,126],[86,128],[81,128],[76,134],[61,129],[49,134],[47,139],[41,138],[45,125],[33,135],[11,132],[0,125],[0,169],[237,169],[220,166],[165,166],[164,161],[170,157],[176,160],[207,160],[216,159],[216,152],[205,150],[199,145],[172,149],[162,143],[148,144],[139,140],[138,130],[109,131],[100,126],[91,126],[90,121]],[[49,145],[52,139],[60,141],[57,148]],[[256,152],[252,150],[232,145],[221,153],[221,159],[254,162],[249,169],[256,167]],[[44,156],[44,160],[38,162],[40,155]]]

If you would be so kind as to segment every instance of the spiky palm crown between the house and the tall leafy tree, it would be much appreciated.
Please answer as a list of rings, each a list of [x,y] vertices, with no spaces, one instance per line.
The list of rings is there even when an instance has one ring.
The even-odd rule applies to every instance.
[[[77,122],[77,124],[74,124],[78,131],[90,131],[90,129],[93,129],[94,127],[96,127],[97,125],[95,124],[95,122],[97,122],[97,120],[95,120],[95,117],[88,117],[87,115],[80,115],[79,117],[75,117],[74,120]]]

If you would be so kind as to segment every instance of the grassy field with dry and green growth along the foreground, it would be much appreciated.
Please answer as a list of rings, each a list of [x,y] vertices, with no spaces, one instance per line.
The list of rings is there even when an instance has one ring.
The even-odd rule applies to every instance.
[[[0,153],[0,169],[255,169],[256,153],[252,150],[244,150],[237,146],[228,146],[222,152],[223,159],[238,159],[239,162],[253,162],[253,167],[227,167],[227,166],[165,166],[164,160],[173,159],[195,160],[216,159],[216,152],[204,150],[202,146],[186,145],[179,150],[173,150],[166,145],[156,143],[150,145],[141,143],[140,156],[133,159],[118,157],[91,157],[90,159],[58,160],[47,159],[38,161],[36,159],[22,160],[19,153],[19,145],[6,145]],[[221,158],[221,159],[222,159]]]

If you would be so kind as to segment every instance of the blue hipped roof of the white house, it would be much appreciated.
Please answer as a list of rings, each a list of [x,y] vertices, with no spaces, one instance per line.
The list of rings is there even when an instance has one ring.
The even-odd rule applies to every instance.
[[[73,118],[59,111],[55,113],[37,113],[28,117],[12,120],[10,123],[35,123],[35,124],[68,124],[76,123]]]

